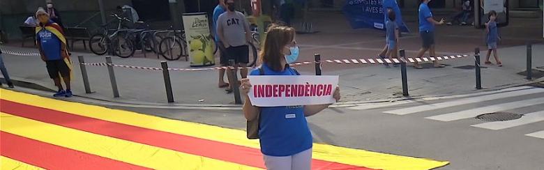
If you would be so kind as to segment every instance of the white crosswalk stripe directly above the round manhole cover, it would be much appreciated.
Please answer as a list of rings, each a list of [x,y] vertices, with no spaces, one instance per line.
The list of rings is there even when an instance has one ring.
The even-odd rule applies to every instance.
[[[478,107],[475,109],[468,109],[464,111],[458,111],[458,112],[449,113],[449,114],[441,114],[437,116],[430,116],[426,118],[436,120],[436,121],[457,121],[464,118],[472,118],[482,113],[491,113],[496,111],[517,109],[517,108],[529,107],[532,105],[541,105],[541,104],[544,104],[544,98],[535,98],[535,99],[529,99],[529,100],[521,100],[517,102],[501,103],[499,105],[491,105],[488,107]]]

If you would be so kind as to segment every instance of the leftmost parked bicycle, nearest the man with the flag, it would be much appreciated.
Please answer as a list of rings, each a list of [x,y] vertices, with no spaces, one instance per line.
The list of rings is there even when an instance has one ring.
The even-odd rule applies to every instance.
[[[112,54],[121,58],[128,58],[134,54],[135,46],[128,37],[130,36],[130,30],[122,29],[121,23],[123,21],[130,22],[130,20],[121,18],[115,14],[112,14],[111,16],[118,20],[117,29],[109,35],[107,24],[101,26],[103,28],[103,33],[96,33],[89,39],[91,52],[97,55],[104,55],[107,52],[112,52]],[[125,36],[121,36],[123,32],[126,32]]]

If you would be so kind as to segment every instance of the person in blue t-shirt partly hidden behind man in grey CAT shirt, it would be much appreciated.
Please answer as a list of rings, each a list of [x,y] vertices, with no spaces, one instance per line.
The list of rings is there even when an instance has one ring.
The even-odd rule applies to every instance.
[[[225,6],[226,0],[219,0],[219,4],[216,6],[215,9],[213,9],[213,17],[211,20],[211,30],[213,33],[213,37],[216,38],[216,45],[218,45],[219,48],[219,63],[221,66],[227,66],[229,65],[229,60],[225,56],[225,47],[222,47],[222,42],[219,40],[219,34],[217,32],[217,20],[219,19],[219,16],[222,13],[227,12],[227,6]],[[219,88],[225,88],[228,87],[229,84],[225,83],[225,69],[219,70]]]

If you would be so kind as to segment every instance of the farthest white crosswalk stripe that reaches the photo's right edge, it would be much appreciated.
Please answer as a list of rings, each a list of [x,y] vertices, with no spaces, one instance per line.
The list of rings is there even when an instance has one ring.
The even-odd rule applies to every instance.
[[[386,114],[397,114],[397,115],[406,115],[406,114],[414,114],[421,111],[430,111],[435,109],[443,109],[446,107],[454,107],[459,105],[467,105],[471,103],[477,103],[477,102],[484,102],[484,101],[490,101],[490,100],[497,100],[500,98],[511,98],[515,96],[520,95],[529,95],[534,93],[542,93],[544,92],[544,88],[526,88],[520,91],[510,91],[506,93],[497,93],[492,95],[482,95],[474,98],[467,98],[462,100],[454,100],[451,102],[440,102],[436,104],[429,104],[429,105],[421,105],[417,107],[409,107],[404,109],[395,109],[391,111],[384,111]]]

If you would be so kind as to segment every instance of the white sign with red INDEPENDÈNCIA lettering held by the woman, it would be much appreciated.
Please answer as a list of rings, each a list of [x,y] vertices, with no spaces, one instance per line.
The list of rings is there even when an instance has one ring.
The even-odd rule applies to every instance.
[[[249,98],[257,107],[323,105],[336,102],[337,76],[248,76]]]

